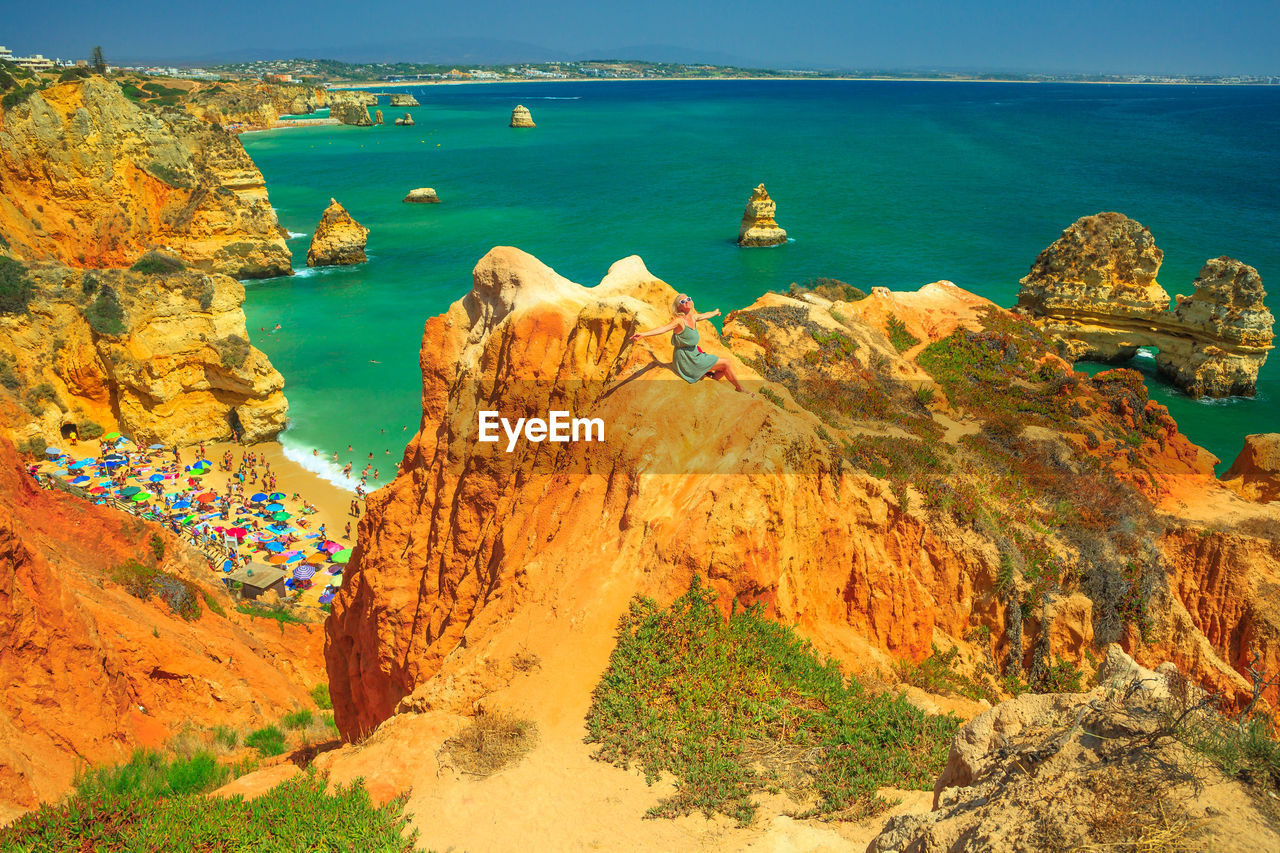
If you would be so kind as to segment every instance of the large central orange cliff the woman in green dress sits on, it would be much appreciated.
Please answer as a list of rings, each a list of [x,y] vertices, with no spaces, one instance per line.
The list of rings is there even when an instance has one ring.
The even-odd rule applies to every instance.
[[[677,379],[666,337],[628,345],[635,330],[669,319],[673,295],[636,257],[588,288],[518,250],[495,248],[476,266],[472,291],[426,323],[421,428],[401,475],[369,498],[326,622],[344,738],[398,712],[470,715],[512,683],[504,662],[525,649],[544,665],[530,681],[538,686],[517,693],[534,707],[554,695],[556,707],[536,713],[577,725],[628,599],[668,601],[695,574],[723,606],[762,603],[855,671],[890,672],[897,658],[955,644],[979,665],[1032,678],[1055,661],[1087,665],[1094,642],[1120,639],[1140,660],[1172,657],[1235,698],[1248,689],[1233,634],[1242,613],[1267,660],[1280,648],[1275,610],[1256,587],[1275,574],[1268,546],[1217,567],[1245,578],[1224,589],[1252,602],[1243,610],[1188,592],[1203,561],[1183,558],[1176,529],[1158,540],[1169,553],[1143,551],[1138,578],[1124,575],[1133,562],[1125,548],[1140,539],[1128,529],[1101,556],[1085,553],[1092,528],[1070,542],[1037,538],[1065,564],[1107,569],[1084,580],[1066,571],[1061,588],[1044,594],[1038,564],[1023,567],[1019,556],[1006,570],[1007,537],[947,510],[992,488],[969,441],[986,425],[955,401],[922,405],[916,392],[941,386],[915,355],[957,327],[977,334],[964,329],[989,318],[1015,323],[984,300],[948,283],[854,304],[767,295],[726,319],[726,339],[701,325],[703,347],[735,356],[754,392],[739,394],[724,383]],[[920,346],[891,346],[891,316]],[[1005,333],[983,334],[998,343]],[[1097,482],[1116,489],[1134,483],[1138,491],[1117,492],[1116,506],[1178,488],[1236,501],[1213,480],[1211,457],[1147,401],[1140,378],[1129,378],[1137,374],[1089,380],[1056,356],[1039,359],[1033,369],[1064,378],[1055,405],[1078,415],[1061,433],[1016,434],[1016,425],[1012,437],[1009,426],[993,433],[1016,442],[1021,456],[1101,466]],[[506,438],[477,441],[481,410],[515,420],[557,409],[600,419],[605,441],[521,439],[509,453]],[[937,487],[955,494],[934,503],[927,470],[902,491],[877,465],[837,452],[877,437],[968,460]],[[1009,498],[1010,517],[1019,517],[1019,502]],[[1184,521],[1197,535],[1219,535],[1203,533],[1203,519]],[[1111,535],[1105,516],[1089,523]],[[1270,534],[1239,535],[1265,543]]]

